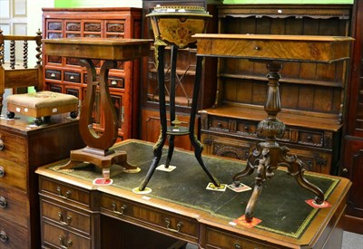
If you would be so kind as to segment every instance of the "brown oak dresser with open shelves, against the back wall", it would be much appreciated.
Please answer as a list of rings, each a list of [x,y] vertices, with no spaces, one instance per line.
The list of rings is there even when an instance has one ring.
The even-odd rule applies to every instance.
[[[351,5],[220,5],[220,34],[299,34],[347,36]],[[344,120],[347,62],[282,65],[278,118],[286,124],[279,140],[306,163],[306,169],[337,174]],[[200,111],[206,153],[246,160],[266,118],[264,63],[220,59],[217,97]]]

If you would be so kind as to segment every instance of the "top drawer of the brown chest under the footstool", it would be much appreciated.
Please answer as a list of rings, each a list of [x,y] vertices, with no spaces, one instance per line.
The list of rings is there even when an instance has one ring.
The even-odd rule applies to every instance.
[[[0,131],[0,158],[10,160],[18,164],[26,162],[26,141],[24,137],[16,136],[13,133]]]

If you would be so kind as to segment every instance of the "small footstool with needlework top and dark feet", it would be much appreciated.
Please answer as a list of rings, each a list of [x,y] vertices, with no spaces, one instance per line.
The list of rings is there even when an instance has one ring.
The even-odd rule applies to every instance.
[[[71,118],[78,115],[78,98],[74,95],[54,91],[38,91],[14,94],[6,98],[7,118],[13,119],[15,113],[34,117],[34,124],[42,124],[52,115],[70,112]]]

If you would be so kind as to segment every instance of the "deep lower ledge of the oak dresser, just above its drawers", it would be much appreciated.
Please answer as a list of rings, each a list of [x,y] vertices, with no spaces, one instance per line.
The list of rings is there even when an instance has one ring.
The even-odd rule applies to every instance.
[[[309,129],[325,129],[338,131],[342,125],[338,123],[338,115],[326,115],[319,117],[315,115],[299,115],[297,112],[290,113],[289,110],[281,110],[278,119],[287,126],[298,126]],[[230,119],[244,119],[260,121],[266,119],[266,112],[263,107],[239,104],[222,104],[216,108],[200,110],[199,113],[220,116]]]

